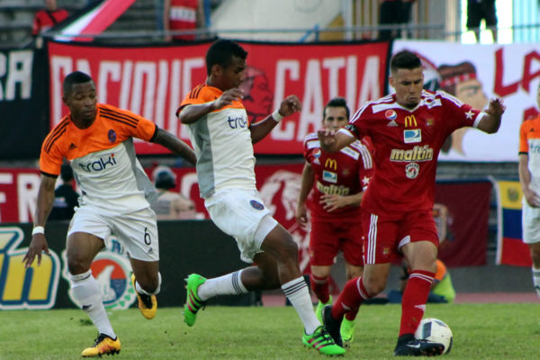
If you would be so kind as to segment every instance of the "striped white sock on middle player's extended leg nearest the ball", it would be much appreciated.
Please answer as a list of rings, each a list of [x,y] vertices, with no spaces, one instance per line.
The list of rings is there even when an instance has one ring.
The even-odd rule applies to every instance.
[[[315,311],[313,311],[310,291],[303,276],[294,279],[287,284],[283,284],[282,290],[284,291],[285,296],[287,296],[287,299],[289,299],[289,302],[293,304],[294,310],[298,312],[298,316],[300,316],[300,320],[302,320],[306,334],[313,334],[315,329],[320,327],[320,322],[315,315]]]

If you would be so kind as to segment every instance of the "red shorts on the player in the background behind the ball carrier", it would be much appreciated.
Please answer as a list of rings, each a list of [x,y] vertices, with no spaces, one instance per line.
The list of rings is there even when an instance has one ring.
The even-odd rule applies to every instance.
[[[339,250],[352,266],[364,266],[362,257],[362,224],[360,221],[311,222],[310,264],[332,266]]]

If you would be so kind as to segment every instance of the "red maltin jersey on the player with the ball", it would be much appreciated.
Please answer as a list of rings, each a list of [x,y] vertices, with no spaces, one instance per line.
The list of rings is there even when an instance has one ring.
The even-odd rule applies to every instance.
[[[374,177],[362,208],[400,218],[411,210],[433,208],[437,157],[454,130],[477,127],[483,112],[445,92],[424,90],[420,103],[407,109],[395,94],[366,103],[339,130],[357,138],[369,136],[374,144]]]

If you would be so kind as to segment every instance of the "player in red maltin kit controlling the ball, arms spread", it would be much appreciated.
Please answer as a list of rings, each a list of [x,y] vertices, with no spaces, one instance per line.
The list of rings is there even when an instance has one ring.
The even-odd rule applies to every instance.
[[[431,210],[435,193],[437,156],[452,131],[472,126],[487,133],[499,130],[505,106],[492,99],[484,112],[444,92],[422,89],[420,59],[403,50],[392,57],[389,83],[395,94],[366,103],[345,129],[319,130],[321,147],[337,151],[358,138],[374,144],[375,172],[362,199],[365,236],[364,273],[345,285],[332,307],[323,309],[330,335],[339,335],[347,311],[356,311],[381,293],[399,251],[410,264],[401,304],[401,327],[395,356],[435,356],[444,346],[414,338],[426,309],[437,268],[437,229]]]

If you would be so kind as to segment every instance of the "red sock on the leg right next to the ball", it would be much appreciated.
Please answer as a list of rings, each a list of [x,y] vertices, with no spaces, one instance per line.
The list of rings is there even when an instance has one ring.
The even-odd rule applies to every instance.
[[[426,311],[426,302],[434,276],[435,273],[425,270],[414,270],[410,273],[401,301],[400,336],[414,334],[419,327]]]

